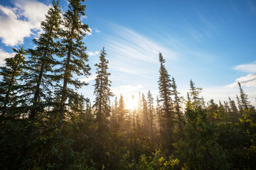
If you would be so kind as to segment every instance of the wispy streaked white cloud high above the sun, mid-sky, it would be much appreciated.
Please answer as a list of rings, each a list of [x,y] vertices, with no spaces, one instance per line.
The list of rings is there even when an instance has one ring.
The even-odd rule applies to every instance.
[[[108,38],[108,47],[118,57],[156,63],[161,52],[166,59],[176,60],[177,54],[144,35],[112,24],[114,35]]]

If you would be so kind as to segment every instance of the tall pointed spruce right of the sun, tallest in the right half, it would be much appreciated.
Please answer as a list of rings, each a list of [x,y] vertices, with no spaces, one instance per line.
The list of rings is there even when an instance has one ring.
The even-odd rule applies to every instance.
[[[162,119],[164,120],[162,126],[164,130],[163,137],[169,137],[171,140],[172,131],[174,128],[174,112],[172,110],[172,99],[171,95],[173,95],[172,91],[172,84],[170,75],[168,74],[164,63],[164,57],[159,52],[159,62],[160,62],[160,69],[159,69],[159,101],[162,103]]]

